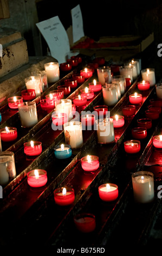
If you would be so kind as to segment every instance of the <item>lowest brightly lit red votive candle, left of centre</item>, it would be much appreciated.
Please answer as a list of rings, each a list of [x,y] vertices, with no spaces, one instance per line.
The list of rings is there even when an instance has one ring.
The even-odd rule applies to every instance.
[[[67,206],[73,204],[75,200],[75,194],[73,188],[70,187],[58,187],[54,190],[55,203],[61,206]]]

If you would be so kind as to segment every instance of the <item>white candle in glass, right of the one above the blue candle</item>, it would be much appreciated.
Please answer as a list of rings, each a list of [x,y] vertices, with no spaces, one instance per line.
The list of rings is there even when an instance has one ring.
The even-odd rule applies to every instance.
[[[115,141],[114,125],[112,118],[104,118],[96,120],[96,132],[98,143],[108,144]]]

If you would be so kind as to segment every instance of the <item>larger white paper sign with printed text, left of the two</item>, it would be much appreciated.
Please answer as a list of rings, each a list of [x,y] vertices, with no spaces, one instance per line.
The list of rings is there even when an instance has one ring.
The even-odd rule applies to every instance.
[[[46,40],[51,56],[59,63],[66,62],[66,56],[70,52],[68,35],[59,16],[36,23],[44,39]]]

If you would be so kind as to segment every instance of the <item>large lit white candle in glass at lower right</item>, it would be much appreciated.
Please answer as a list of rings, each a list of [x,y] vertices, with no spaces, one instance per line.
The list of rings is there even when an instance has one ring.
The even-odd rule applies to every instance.
[[[154,199],[154,179],[151,172],[132,174],[134,200],[137,203],[150,203]]]

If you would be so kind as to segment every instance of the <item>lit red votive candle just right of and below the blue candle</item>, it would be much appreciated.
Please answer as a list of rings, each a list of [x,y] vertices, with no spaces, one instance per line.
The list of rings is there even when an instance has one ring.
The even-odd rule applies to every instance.
[[[93,172],[97,170],[100,166],[99,157],[98,156],[84,156],[81,159],[82,169],[86,172]]]

